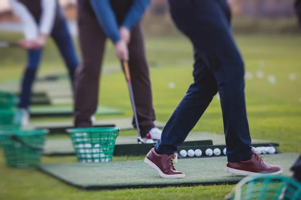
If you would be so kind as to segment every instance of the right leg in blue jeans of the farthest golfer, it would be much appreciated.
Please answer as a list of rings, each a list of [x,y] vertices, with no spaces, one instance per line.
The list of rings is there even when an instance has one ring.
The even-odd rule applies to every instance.
[[[76,54],[76,50],[73,44],[71,33],[68,29],[67,22],[60,24],[58,27],[54,27],[51,36],[53,37],[65,64],[68,68],[69,77],[72,87],[74,86],[74,73],[75,69],[79,65],[79,60]]]

